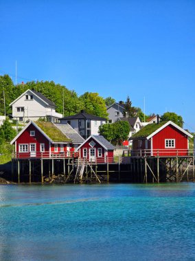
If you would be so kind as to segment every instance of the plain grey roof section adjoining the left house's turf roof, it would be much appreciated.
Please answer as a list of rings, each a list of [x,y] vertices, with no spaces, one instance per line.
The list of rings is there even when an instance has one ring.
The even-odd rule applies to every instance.
[[[83,137],[81,137],[78,132],[73,129],[69,124],[54,124],[57,128],[60,129],[60,131],[62,131],[62,133],[64,133],[67,137],[69,137],[69,139],[72,140],[73,143],[75,144],[81,144],[84,139]]]

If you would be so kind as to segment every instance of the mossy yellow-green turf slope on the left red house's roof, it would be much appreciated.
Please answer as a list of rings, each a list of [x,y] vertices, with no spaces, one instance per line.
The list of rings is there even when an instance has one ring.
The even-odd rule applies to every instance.
[[[54,142],[71,141],[71,139],[69,139],[51,122],[35,122],[35,124]]]

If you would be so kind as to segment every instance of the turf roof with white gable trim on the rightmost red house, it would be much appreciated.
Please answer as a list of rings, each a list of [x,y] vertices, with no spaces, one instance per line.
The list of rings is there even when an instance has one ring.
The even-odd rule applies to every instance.
[[[153,137],[154,135],[159,133],[159,131],[163,130],[163,128],[165,128],[168,125],[174,126],[179,131],[181,131],[182,133],[185,133],[185,135],[187,135],[187,136],[189,136],[191,138],[193,137],[190,133],[188,133],[187,131],[183,130],[183,128],[179,127],[174,122],[169,121],[169,122],[159,122],[159,124],[157,124],[157,123],[148,124],[144,128],[141,128],[140,131],[135,133],[135,135],[133,135],[133,137],[130,137],[130,139],[138,139],[138,138],[150,139],[151,137]]]

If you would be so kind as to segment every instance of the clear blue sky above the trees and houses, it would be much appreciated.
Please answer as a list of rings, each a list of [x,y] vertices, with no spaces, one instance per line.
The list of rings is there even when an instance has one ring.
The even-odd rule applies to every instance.
[[[195,1],[0,0],[0,74],[173,111],[195,132]]]

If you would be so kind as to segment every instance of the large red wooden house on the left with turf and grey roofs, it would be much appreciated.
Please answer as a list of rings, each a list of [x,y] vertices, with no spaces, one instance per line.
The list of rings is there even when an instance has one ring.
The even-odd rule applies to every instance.
[[[11,141],[15,147],[14,157],[76,157],[76,148],[84,139],[68,124],[61,125],[63,126],[51,122],[29,122]]]

